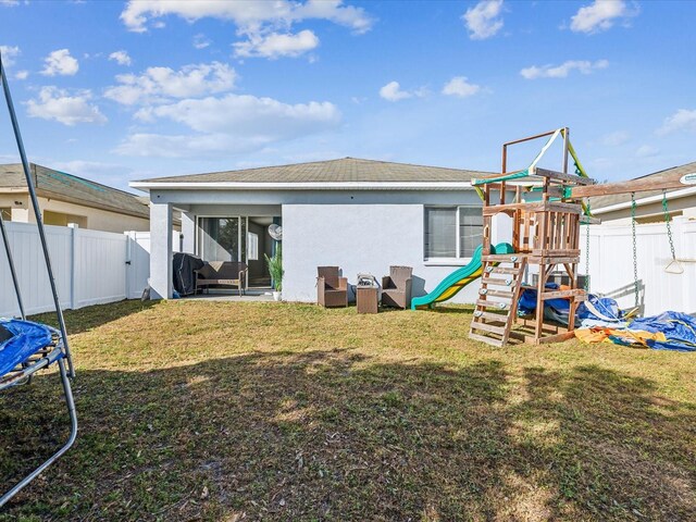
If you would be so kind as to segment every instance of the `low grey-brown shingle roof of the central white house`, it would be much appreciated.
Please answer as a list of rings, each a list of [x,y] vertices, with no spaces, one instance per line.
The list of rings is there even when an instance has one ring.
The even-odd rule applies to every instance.
[[[343,158],[339,160],[263,166],[240,171],[157,177],[134,182],[130,186],[139,188],[158,186],[176,188],[175,184],[186,184],[187,186],[204,184],[204,186],[228,186],[231,188],[244,185],[253,185],[260,188],[264,188],[264,185],[268,185],[268,188],[271,188],[271,186],[293,188],[293,185],[319,185],[313,188],[322,188],[321,185],[326,184],[326,188],[331,188],[341,184],[469,183],[472,177],[482,174],[490,173]]]

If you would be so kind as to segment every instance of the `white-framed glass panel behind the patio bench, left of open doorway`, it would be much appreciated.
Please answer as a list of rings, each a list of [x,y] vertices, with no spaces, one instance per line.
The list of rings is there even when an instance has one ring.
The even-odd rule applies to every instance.
[[[198,254],[203,261],[247,261],[247,217],[198,217]]]

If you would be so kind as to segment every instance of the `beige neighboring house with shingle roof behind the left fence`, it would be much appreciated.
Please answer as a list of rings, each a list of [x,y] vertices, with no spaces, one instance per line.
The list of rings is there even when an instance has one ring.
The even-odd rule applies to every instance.
[[[116,233],[150,228],[148,202],[137,196],[35,163],[29,167],[45,224]],[[20,163],[0,165],[0,212],[5,221],[36,221]]]

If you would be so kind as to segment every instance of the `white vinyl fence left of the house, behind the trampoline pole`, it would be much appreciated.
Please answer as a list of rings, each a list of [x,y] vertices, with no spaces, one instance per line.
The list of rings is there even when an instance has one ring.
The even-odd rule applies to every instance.
[[[7,222],[5,227],[26,313],[53,310],[36,225]],[[150,233],[46,226],[46,235],[63,309],[135,299],[147,286]],[[178,233],[175,235],[178,238]],[[174,241],[178,244],[178,239]],[[12,276],[1,246],[0,251],[0,316],[17,315]]]

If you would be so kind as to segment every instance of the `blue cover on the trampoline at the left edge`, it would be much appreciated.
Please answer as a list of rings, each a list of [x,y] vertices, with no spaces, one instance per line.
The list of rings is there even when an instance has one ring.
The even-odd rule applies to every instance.
[[[16,319],[0,320],[0,376],[52,343],[48,326]]]

